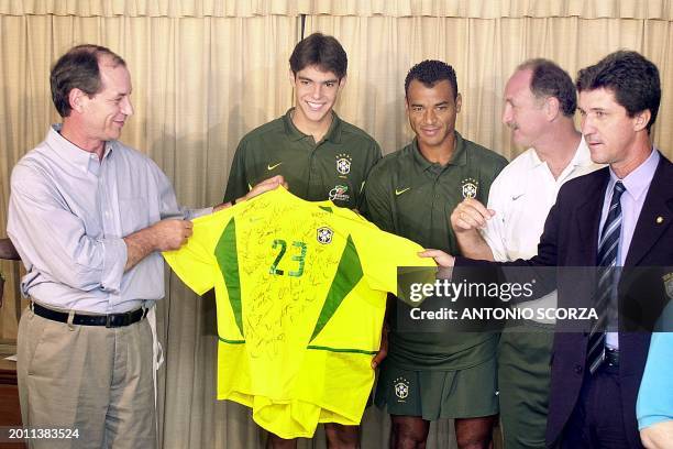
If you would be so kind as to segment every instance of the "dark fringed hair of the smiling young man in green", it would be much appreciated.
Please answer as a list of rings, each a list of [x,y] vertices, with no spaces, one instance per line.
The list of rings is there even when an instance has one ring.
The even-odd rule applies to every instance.
[[[313,33],[299,41],[289,62],[295,76],[299,70],[315,65],[324,72],[332,72],[341,79],[349,67],[349,58],[339,41],[322,33]]]

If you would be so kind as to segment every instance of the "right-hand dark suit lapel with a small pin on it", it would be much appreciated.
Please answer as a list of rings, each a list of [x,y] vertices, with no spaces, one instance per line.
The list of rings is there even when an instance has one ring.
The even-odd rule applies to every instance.
[[[638,217],[625,266],[636,266],[673,221],[671,164],[662,156]]]

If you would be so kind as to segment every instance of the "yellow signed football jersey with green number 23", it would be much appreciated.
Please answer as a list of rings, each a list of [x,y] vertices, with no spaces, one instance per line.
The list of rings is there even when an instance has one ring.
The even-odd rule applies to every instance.
[[[374,383],[386,292],[422,248],[284,188],[194,221],[164,253],[197,294],[216,288],[218,398],[283,437],[357,425]]]

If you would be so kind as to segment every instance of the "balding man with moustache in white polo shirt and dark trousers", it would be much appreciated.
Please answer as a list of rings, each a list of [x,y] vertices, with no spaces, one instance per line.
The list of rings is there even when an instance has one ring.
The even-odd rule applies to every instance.
[[[467,198],[451,215],[463,254],[514,261],[538,253],[556,194],[569,179],[598,168],[575,129],[571,77],[547,59],[521,64],[505,88],[503,122],[528,147],[494,180],[488,207]],[[553,308],[555,292],[515,307]],[[508,322],[498,349],[505,448],[544,448],[553,321]]]

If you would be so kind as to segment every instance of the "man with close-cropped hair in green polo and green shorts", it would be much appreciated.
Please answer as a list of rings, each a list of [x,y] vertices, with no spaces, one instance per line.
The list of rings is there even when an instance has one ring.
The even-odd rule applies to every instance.
[[[485,200],[507,161],[455,131],[462,98],[455,72],[424,61],[405,80],[413,141],[385,156],[365,186],[363,212],[382,229],[424,248],[457,251],[451,211],[464,198]],[[497,414],[497,335],[402,330],[390,303],[388,354],[375,403],[391,415],[394,448],[424,448],[430,421],[455,418],[460,448],[487,448]]]

